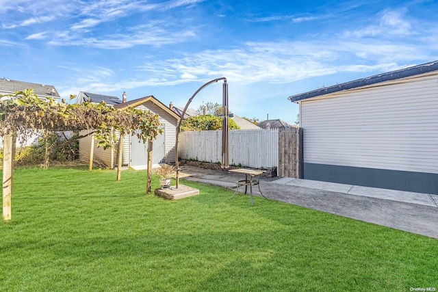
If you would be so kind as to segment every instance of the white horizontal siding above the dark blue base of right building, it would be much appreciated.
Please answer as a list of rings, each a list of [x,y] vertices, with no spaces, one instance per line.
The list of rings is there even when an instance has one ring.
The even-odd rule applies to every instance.
[[[304,161],[438,174],[438,76],[302,101]]]

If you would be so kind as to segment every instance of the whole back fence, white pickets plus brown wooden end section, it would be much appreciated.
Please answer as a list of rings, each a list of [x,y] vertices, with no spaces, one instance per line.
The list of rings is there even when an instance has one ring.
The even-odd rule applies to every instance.
[[[219,163],[222,131],[190,131],[179,134],[179,157]],[[302,130],[229,131],[229,163],[248,168],[277,167],[279,176],[302,177]]]

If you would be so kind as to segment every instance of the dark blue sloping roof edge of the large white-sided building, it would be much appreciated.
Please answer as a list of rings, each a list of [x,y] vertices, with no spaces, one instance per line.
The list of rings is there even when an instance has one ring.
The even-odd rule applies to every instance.
[[[337,84],[333,86],[329,86],[326,88],[320,88],[318,90],[313,90],[309,92],[305,92],[302,94],[296,94],[289,96],[287,99],[292,102],[302,101],[303,99],[312,98],[316,96],[322,96],[325,94],[331,94],[334,92],[340,92],[342,90],[351,90],[354,88],[360,88],[367,85],[372,85],[376,83],[383,83],[385,81],[394,81],[397,79],[402,79],[406,77],[412,77],[415,75],[424,74],[427,72],[433,72],[438,70],[438,61],[412,66],[409,68],[404,68],[400,70],[395,70],[379,75],[374,75],[371,77],[357,79],[355,81],[350,81],[342,84]]]

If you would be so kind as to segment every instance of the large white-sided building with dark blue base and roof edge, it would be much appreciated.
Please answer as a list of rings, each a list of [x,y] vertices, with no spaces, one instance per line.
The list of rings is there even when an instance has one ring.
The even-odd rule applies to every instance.
[[[304,178],[438,194],[438,61],[288,99]]]

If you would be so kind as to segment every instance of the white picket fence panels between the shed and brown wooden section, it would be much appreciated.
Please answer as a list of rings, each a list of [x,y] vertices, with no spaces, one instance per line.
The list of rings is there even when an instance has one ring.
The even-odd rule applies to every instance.
[[[179,135],[181,159],[220,162],[222,131],[181,132]],[[229,131],[229,163],[248,168],[279,165],[279,130]]]

